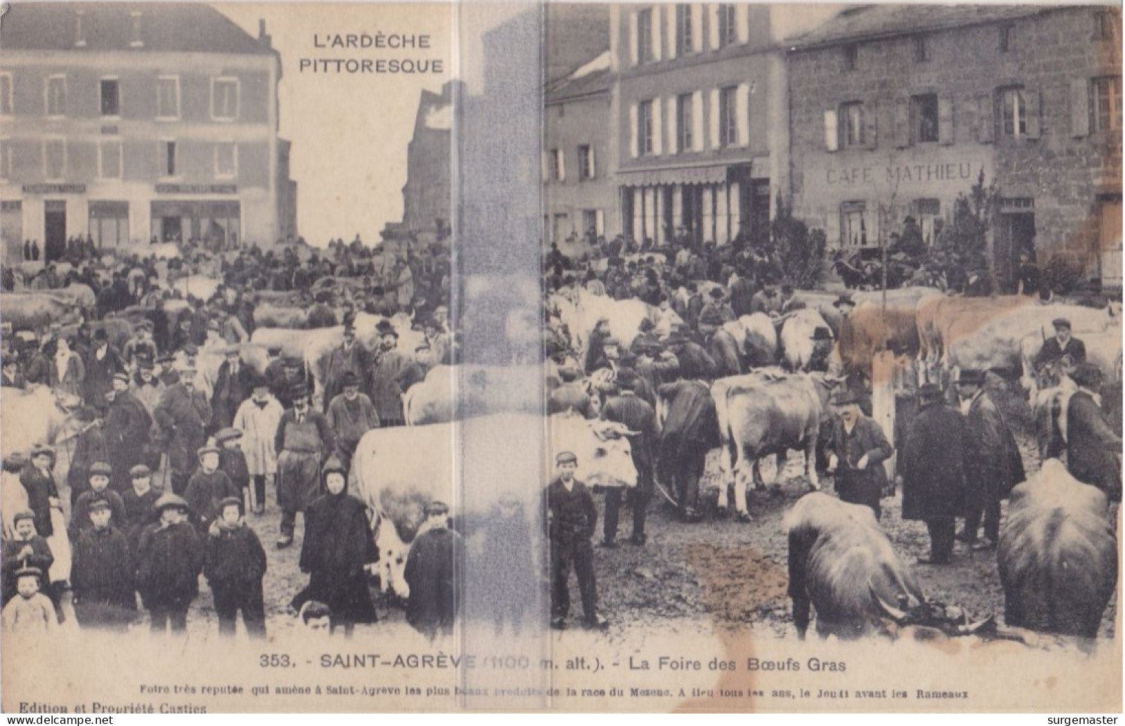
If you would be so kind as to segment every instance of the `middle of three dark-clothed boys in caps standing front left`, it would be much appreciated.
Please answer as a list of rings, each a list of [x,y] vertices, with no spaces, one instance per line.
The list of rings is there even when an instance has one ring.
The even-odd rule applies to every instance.
[[[173,633],[188,626],[188,606],[199,595],[204,548],[187,521],[188,502],[166,492],[156,500],[160,520],[141,534],[136,555],[136,584],[152,616],[151,628]]]

